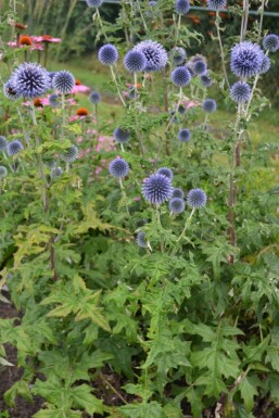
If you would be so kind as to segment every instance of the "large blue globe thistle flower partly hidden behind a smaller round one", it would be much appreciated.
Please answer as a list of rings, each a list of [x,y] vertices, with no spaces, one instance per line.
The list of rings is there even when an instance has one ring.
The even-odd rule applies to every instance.
[[[132,50],[142,52],[144,54],[147,60],[144,67],[145,72],[160,71],[166,66],[167,53],[158,42],[154,42],[153,40],[143,40],[136,45]]]

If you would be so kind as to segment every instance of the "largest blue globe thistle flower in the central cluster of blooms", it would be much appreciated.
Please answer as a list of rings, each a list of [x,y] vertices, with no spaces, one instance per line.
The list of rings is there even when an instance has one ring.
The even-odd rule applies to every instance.
[[[148,202],[160,205],[172,198],[172,182],[162,174],[152,174],[143,180],[142,194]]]

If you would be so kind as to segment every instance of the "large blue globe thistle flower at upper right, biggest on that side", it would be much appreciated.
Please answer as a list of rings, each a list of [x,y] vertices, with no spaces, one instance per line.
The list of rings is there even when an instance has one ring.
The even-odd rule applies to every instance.
[[[252,77],[261,72],[264,53],[256,43],[237,43],[230,54],[230,68],[238,77]]]

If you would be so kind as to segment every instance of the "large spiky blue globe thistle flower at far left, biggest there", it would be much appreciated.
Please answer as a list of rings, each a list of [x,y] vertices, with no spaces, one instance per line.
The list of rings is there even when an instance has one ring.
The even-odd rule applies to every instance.
[[[38,98],[51,87],[47,69],[37,63],[23,63],[11,75],[15,91],[26,98]]]

